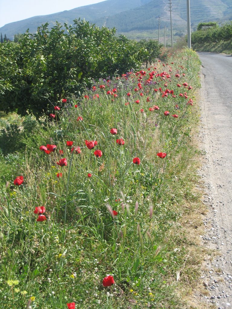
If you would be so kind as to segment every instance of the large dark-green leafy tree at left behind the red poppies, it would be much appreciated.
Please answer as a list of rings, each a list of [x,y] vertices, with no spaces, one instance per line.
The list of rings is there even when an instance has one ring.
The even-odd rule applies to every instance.
[[[21,115],[53,110],[62,97],[80,95],[92,79],[125,73],[140,67],[140,47],[115,28],[96,27],[75,19],[73,26],[60,23],[26,32],[18,44],[0,46],[0,110]],[[66,31],[65,31],[66,30]]]

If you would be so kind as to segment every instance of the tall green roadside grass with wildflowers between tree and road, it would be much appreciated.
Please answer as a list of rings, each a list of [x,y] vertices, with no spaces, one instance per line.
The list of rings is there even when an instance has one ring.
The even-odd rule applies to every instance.
[[[146,74],[99,80],[96,88],[86,89],[86,97],[58,102],[59,121],[37,133],[37,140],[57,150],[47,155],[34,145],[25,156],[24,184],[1,189],[4,308],[57,309],[70,302],[76,308],[183,308],[171,277],[184,262],[185,248],[171,231],[182,216],[178,205],[193,198],[186,167],[197,116],[187,102],[199,87],[199,66],[196,54],[184,50],[165,63],[157,61]],[[142,88],[135,91],[139,81]],[[164,95],[166,89],[174,95]],[[160,109],[149,110],[154,105]],[[170,115],[164,116],[167,110]],[[77,121],[80,116],[83,121]],[[120,138],[124,145],[116,142]],[[90,150],[85,140],[97,145]],[[81,153],[71,152],[66,141]],[[166,157],[159,158],[159,152]],[[135,157],[139,165],[133,164]],[[62,158],[67,166],[57,165]],[[16,176],[8,181],[13,184]],[[34,210],[42,205],[46,221],[37,222]],[[103,287],[107,274],[115,284]]]

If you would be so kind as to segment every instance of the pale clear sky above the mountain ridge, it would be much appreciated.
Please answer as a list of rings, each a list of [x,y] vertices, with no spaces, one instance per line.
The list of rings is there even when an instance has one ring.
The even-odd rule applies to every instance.
[[[0,27],[37,15],[48,15],[104,0],[0,0]]]

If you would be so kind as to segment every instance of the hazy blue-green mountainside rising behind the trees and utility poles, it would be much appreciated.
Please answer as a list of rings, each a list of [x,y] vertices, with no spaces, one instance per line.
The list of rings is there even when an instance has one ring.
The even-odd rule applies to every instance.
[[[166,4],[165,4],[166,3]],[[232,2],[230,0],[195,0],[190,3],[191,26],[196,27],[199,22],[224,22],[231,19]],[[206,15],[207,12],[207,15]],[[158,17],[161,17],[161,29],[170,27],[170,11],[168,1],[158,0],[107,0],[97,4],[82,6],[70,11],[58,12],[44,16],[34,16],[0,28],[0,32],[10,39],[16,33],[24,33],[28,28],[34,33],[42,23],[48,22],[53,27],[56,21],[72,24],[75,18],[86,19],[98,26],[117,28],[118,34],[136,31],[158,29]],[[173,30],[179,35],[186,32],[186,1],[172,1]],[[129,36],[128,36],[129,37]]]

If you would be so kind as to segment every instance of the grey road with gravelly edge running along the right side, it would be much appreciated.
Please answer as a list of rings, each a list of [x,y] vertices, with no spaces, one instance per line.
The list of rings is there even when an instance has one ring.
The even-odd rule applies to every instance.
[[[200,301],[232,308],[232,56],[199,53],[202,62],[200,138],[205,159],[200,174],[205,182],[208,214],[203,245],[218,250],[206,256]]]

